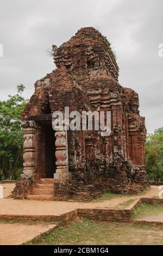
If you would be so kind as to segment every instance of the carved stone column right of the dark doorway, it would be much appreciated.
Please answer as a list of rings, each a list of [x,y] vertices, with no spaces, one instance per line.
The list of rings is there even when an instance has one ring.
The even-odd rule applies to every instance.
[[[68,147],[67,147],[67,131],[55,132],[55,157],[57,159],[57,169],[54,173],[54,180],[60,182],[68,181],[71,173],[68,173]]]

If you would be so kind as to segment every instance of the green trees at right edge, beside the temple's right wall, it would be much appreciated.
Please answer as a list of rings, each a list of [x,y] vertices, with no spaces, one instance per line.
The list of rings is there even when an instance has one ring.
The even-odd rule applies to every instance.
[[[145,151],[148,179],[163,181],[163,127],[147,136]]]

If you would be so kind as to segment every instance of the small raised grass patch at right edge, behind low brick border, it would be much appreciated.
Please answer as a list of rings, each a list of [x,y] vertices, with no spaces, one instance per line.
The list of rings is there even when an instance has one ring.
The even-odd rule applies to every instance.
[[[160,212],[163,212],[163,205],[142,203],[133,211],[133,216],[134,218],[140,219],[145,216],[160,214]]]

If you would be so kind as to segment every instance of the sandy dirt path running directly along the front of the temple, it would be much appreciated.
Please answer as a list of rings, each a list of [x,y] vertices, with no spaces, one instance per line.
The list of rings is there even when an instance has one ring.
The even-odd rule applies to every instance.
[[[10,194],[13,184],[1,184],[5,194]],[[10,192],[9,192],[10,191]],[[158,196],[158,187],[151,186],[150,191],[138,196],[117,197],[103,202],[64,202],[64,201],[39,201],[15,200],[12,198],[0,199],[0,215],[61,215],[78,208],[123,208],[122,203],[129,199]]]

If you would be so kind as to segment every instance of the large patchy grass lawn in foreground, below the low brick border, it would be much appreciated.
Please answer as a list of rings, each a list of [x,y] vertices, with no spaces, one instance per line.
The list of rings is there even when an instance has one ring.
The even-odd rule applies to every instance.
[[[163,227],[131,223],[76,221],[28,245],[161,245]]]

